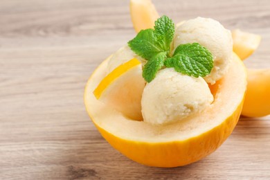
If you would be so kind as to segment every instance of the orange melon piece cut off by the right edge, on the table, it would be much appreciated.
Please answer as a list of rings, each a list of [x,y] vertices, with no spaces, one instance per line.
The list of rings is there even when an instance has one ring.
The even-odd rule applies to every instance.
[[[242,115],[249,117],[270,114],[270,69],[248,69],[248,85]]]

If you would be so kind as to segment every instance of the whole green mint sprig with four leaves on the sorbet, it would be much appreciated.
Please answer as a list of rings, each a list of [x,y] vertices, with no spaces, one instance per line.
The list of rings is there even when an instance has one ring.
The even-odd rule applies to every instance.
[[[141,30],[128,42],[134,53],[147,60],[143,67],[143,78],[146,82],[151,82],[163,66],[172,67],[179,73],[196,78],[208,75],[213,69],[212,54],[198,43],[181,44],[170,57],[173,37],[174,23],[163,15],[155,21],[154,29]]]

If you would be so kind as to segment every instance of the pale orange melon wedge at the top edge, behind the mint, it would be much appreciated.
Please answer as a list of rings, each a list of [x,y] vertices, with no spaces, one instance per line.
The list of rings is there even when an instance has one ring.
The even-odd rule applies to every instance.
[[[137,33],[143,29],[154,28],[154,21],[159,18],[159,14],[151,0],[131,0],[129,7]]]

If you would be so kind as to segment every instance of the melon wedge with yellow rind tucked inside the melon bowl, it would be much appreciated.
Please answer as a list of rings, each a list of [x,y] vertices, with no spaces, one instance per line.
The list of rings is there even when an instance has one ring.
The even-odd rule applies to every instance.
[[[93,91],[96,99],[111,105],[125,116],[143,120],[141,98],[145,87],[141,62],[136,58],[120,64]]]

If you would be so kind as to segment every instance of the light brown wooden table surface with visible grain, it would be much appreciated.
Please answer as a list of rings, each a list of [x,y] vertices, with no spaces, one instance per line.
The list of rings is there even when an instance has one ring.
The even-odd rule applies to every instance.
[[[181,21],[212,17],[262,35],[248,67],[270,67],[270,1],[153,0]],[[0,179],[270,179],[270,117],[240,118],[219,149],[179,168],[114,150],[84,109],[93,70],[135,32],[129,1],[0,1]]]

